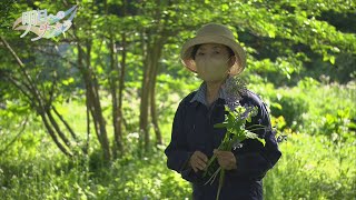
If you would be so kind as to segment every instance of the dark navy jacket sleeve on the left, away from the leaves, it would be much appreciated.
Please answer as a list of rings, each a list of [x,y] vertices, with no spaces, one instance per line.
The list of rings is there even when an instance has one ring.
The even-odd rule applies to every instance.
[[[171,140],[165,150],[167,167],[180,173],[184,179],[195,182],[198,180],[198,174],[188,167],[188,161],[192,152],[188,151],[187,136],[184,130],[184,118],[185,107],[184,102],[180,102],[172,122]]]

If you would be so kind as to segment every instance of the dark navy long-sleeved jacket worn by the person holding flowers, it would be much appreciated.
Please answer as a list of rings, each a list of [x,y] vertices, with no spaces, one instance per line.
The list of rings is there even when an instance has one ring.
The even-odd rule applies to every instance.
[[[195,200],[215,200],[218,190],[218,178],[212,184],[206,184],[208,178],[202,171],[195,172],[188,167],[190,156],[195,151],[204,152],[211,158],[214,149],[220,144],[226,129],[214,128],[225,118],[225,99],[218,98],[210,108],[199,101],[191,101],[197,91],[184,98],[176,111],[171,141],[166,148],[167,167],[177,171],[184,179],[192,183]],[[241,106],[258,107],[258,114],[246,123],[263,124],[270,128],[270,120],[265,103],[251,91],[241,96]],[[271,169],[281,156],[275,133],[270,129],[254,131],[265,139],[263,146],[257,140],[245,140],[241,148],[233,148],[237,169],[226,170],[225,181],[219,196],[220,200],[263,199],[263,181],[266,172]]]

